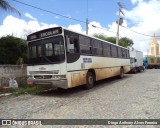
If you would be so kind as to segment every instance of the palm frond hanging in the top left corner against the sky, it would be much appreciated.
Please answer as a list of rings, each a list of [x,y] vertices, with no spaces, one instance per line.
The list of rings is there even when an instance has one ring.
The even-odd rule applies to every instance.
[[[17,13],[18,15],[21,15],[20,12],[12,7],[6,0],[0,0],[0,8],[5,11],[11,11]]]

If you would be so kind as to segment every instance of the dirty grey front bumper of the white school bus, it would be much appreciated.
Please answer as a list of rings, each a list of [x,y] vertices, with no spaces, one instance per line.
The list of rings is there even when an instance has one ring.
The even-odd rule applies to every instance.
[[[53,80],[53,79],[27,79],[28,85],[59,87],[63,89],[68,88],[67,79]]]

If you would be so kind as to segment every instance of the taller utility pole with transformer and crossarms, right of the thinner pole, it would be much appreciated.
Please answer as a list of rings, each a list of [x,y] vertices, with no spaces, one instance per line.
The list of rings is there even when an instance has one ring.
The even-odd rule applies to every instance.
[[[118,42],[119,42],[119,25],[122,25],[122,23],[123,23],[123,18],[120,18],[120,14],[122,13],[124,15],[124,12],[122,11],[123,6],[122,6],[122,4],[120,2],[118,2],[118,7],[119,7],[119,10],[118,10],[118,21],[116,21],[116,23],[117,23],[116,45],[118,45]]]

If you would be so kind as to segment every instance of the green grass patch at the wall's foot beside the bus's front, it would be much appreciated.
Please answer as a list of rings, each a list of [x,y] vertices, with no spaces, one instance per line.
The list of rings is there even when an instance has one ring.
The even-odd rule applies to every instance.
[[[44,90],[44,88],[39,86],[20,86],[19,88],[10,88],[9,92],[14,95],[21,95],[21,94],[36,94],[40,93]]]

